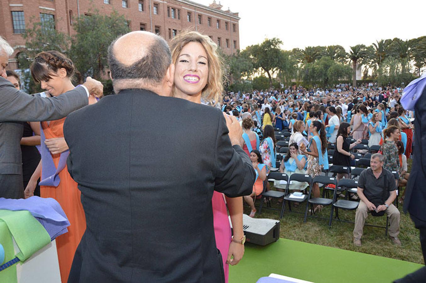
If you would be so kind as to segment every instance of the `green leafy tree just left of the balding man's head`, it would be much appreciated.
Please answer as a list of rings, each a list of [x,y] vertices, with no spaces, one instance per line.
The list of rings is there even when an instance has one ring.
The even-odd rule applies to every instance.
[[[75,66],[83,77],[100,79],[108,65],[109,44],[130,32],[126,19],[116,11],[109,15],[94,11],[75,19],[74,29],[77,34],[72,38],[70,54]]]

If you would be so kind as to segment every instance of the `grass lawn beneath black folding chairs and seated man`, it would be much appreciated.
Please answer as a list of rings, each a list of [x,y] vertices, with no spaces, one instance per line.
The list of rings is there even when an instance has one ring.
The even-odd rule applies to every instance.
[[[409,172],[411,160],[409,160]],[[272,185],[272,183],[270,183]],[[256,200],[256,207],[259,206],[259,200]],[[303,202],[298,208],[292,207],[292,211],[304,213],[305,204]],[[274,208],[281,208],[276,200],[271,201]],[[270,218],[279,220],[279,211],[262,208],[262,214],[256,213],[256,218]],[[399,205],[401,212],[400,234],[399,239],[402,245],[395,246],[391,243],[388,236],[385,236],[384,228],[376,228],[364,226],[364,234],[361,239],[362,246],[356,247],[352,242],[354,229],[353,223],[334,221],[331,228],[328,227],[328,218],[330,217],[330,206],[324,207],[318,214],[320,217],[327,219],[317,219],[308,217],[306,223],[303,223],[303,214],[297,214],[288,211],[286,204],[284,217],[280,223],[280,237],[290,240],[301,241],[305,243],[313,243],[317,245],[325,245],[328,247],[341,248],[350,251],[357,251],[366,254],[374,254],[382,257],[394,258],[397,260],[405,260],[413,263],[424,264],[423,255],[420,247],[419,231],[414,228],[408,214],[402,212],[402,204]],[[259,211],[259,209],[258,209]],[[245,205],[244,213],[250,214],[250,208]],[[309,214],[308,214],[309,215]],[[355,211],[339,210],[340,219],[354,221]],[[384,226],[386,224],[386,214],[383,217],[367,218],[367,223]]]

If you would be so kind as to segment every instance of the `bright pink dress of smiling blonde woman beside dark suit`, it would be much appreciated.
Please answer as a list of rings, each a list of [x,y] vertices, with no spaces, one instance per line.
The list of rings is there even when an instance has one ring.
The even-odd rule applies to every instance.
[[[229,265],[226,263],[229,244],[231,243],[231,227],[229,225],[228,213],[226,210],[225,199],[222,193],[213,192],[213,226],[216,237],[216,247],[222,254],[223,270],[225,271],[225,283],[228,282]]]

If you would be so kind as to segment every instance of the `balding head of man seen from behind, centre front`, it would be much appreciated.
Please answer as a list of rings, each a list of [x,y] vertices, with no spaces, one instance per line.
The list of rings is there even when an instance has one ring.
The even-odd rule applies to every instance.
[[[170,49],[163,38],[151,32],[129,32],[111,43],[108,63],[113,85],[158,85],[171,63]]]

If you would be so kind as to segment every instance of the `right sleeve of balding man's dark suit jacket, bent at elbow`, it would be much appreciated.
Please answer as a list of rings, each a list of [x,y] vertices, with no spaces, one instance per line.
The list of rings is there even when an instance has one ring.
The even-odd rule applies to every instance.
[[[215,152],[215,191],[229,197],[253,192],[256,173],[250,158],[239,145],[231,146],[225,118],[220,113]]]

